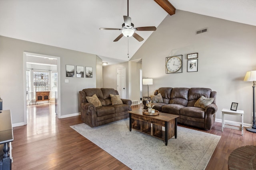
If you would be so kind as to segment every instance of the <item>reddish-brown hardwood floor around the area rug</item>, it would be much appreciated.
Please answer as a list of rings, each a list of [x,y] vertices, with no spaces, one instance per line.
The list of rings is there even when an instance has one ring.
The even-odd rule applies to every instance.
[[[132,109],[140,107],[132,106]],[[82,123],[80,116],[56,118],[54,104],[29,106],[27,123],[13,130],[13,170],[130,169],[70,127]],[[221,123],[218,122],[210,131],[204,132],[221,136],[206,170],[227,170],[228,156],[232,150],[244,145],[256,145],[256,133],[244,129],[244,136],[241,136],[240,131],[229,128],[222,132]]]

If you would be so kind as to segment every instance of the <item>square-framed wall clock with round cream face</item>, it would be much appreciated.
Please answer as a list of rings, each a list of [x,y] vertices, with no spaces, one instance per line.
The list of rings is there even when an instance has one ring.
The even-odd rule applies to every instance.
[[[175,55],[166,57],[166,73],[182,72],[182,57],[183,55]]]

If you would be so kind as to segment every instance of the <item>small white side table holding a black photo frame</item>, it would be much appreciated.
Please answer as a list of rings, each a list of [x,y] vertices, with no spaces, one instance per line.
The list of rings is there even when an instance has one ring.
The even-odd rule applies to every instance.
[[[239,115],[242,116],[242,125],[241,127],[234,127],[234,126],[229,126],[225,125],[225,114],[228,115]],[[223,132],[223,127],[228,127],[231,129],[236,129],[242,131],[242,136],[244,135],[244,111],[243,110],[230,110],[230,109],[222,109],[222,132]]]

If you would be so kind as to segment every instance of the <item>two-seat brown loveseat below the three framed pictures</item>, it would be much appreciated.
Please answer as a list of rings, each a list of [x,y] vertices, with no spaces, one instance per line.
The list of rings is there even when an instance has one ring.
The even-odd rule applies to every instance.
[[[86,96],[93,96],[94,94],[102,106],[95,107],[88,103]],[[121,99],[123,104],[112,105],[110,94],[118,95],[118,91],[113,88],[87,88],[79,92],[81,119],[84,123],[90,127],[96,127],[129,117],[128,111],[132,110],[132,101]]]

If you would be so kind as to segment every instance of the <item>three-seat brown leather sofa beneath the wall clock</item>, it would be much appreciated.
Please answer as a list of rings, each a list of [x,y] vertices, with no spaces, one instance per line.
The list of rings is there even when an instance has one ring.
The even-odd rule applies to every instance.
[[[191,125],[210,130],[215,122],[216,93],[210,88],[159,88],[155,90],[154,95],[161,94],[163,102],[154,103],[154,109],[174,115],[179,115],[178,123]],[[212,104],[205,109],[194,107],[196,101],[204,96],[214,98]],[[144,109],[147,109],[146,101],[143,100]]]

